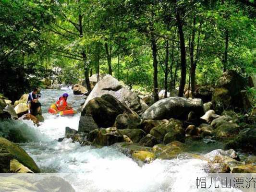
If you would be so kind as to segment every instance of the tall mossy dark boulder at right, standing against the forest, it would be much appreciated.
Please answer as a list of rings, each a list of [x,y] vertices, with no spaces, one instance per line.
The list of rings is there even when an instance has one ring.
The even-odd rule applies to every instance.
[[[216,82],[213,92],[213,107],[217,113],[227,108],[243,108],[241,91],[245,88],[244,78],[235,71],[228,70]]]

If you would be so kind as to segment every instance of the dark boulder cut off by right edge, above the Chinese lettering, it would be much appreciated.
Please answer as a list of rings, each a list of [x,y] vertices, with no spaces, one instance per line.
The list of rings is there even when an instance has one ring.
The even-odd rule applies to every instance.
[[[226,149],[242,149],[244,151],[255,151],[256,128],[246,128],[225,145]]]

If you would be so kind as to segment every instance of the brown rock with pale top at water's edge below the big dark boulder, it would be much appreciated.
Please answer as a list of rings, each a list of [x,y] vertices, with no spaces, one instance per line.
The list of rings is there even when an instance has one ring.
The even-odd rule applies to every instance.
[[[100,129],[93,144],[109,146],[114,143],[123,142],[123,136],[115,127]]]

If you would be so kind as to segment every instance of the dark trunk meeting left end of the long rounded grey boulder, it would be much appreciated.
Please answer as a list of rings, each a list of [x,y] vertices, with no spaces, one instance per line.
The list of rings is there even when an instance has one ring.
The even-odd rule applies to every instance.
[[[157,60],[157,44],[156,38],[151,34],[151,46],[152,46],[152,56],[153,56],[153,68],[154,68],[154,100],[157,102],[159,100],[158,96],[158,60]]]

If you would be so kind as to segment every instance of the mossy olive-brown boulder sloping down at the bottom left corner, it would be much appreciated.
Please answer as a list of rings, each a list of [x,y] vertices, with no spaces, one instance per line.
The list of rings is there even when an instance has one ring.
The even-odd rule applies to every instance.
[[[39,173],[35,161],[18,145],[0,137],[0,172],[10,171],[10,162],[16,159],[35,173]]]

